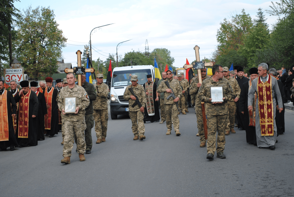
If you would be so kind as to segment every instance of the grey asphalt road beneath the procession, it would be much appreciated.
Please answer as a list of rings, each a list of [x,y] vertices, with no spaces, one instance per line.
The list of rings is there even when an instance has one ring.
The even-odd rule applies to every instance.
[[[226,159],[206,159],[196,136],[196,115],[179,115],[181,136],[166,136],[166,123],[146,123],[133,141],[131,120],[109,114],[106,142],[80,162],[62,157],[61,132],[38,146],[0,152],[0,196],[293,196],[294,111],[286,109],[276,150],[246,143],[245,131],[226,136]]]

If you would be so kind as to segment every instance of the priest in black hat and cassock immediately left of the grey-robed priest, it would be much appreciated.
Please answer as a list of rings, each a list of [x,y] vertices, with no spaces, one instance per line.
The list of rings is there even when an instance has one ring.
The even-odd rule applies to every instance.
[[[244,115],[242,120],[244,129],[246,131],[246,142],[249,144],[256,145],[256,132],[255,132],[255,102],[257,98],[257,94],[254,93],[254,102],[253,102],[253,110],[248,110],[248,92],[252,87],[253,79],[258,77],[258,69],[251,68],[249,70],[250,80],[245,82],[242,85],[240,99],[239,99],[239,109],[240,112]]]

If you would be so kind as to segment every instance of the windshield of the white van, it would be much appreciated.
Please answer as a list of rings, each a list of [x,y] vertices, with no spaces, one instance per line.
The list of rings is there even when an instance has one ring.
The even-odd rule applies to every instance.
[[[128,71],[114,71],[111,87],[128,86],[131,84],[131,75],[138,76],[138,84],[143,85],[147,81],[147,75],[151,75],[151,69],[139,69]]]

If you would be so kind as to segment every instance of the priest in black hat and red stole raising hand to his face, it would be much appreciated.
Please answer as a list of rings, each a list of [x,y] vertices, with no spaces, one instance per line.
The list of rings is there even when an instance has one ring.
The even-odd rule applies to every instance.
[[[21,81],[21,90],[14,99],[19,103],[16,137],[19,147],[37,146],[38,97],[29,89],[29,81]]]

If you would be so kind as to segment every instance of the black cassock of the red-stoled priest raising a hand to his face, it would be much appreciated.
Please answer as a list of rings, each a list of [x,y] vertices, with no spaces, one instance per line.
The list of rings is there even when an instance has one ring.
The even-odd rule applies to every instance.
[[[28,94],[28,93],[27,93]],[[19,94],[16,94],[15,102],[18,103],[20,100]],[[19,111],[17,113],[17,119],[16,119],[16,139],[18,140],[19,146],[37,146],[38,140],[37,140],[37,117],[38,117],[38,108],[39,108],[39,102],[38,97],[35,92],[31,91],[31,95],[29,98],[29,132],[28,132],[28,138],[18,138],[18,120],[19,120],[19,111],[21,109],[20,103],[19,103]],[[36,117],[33,118],[32,116],[35,115]]]

